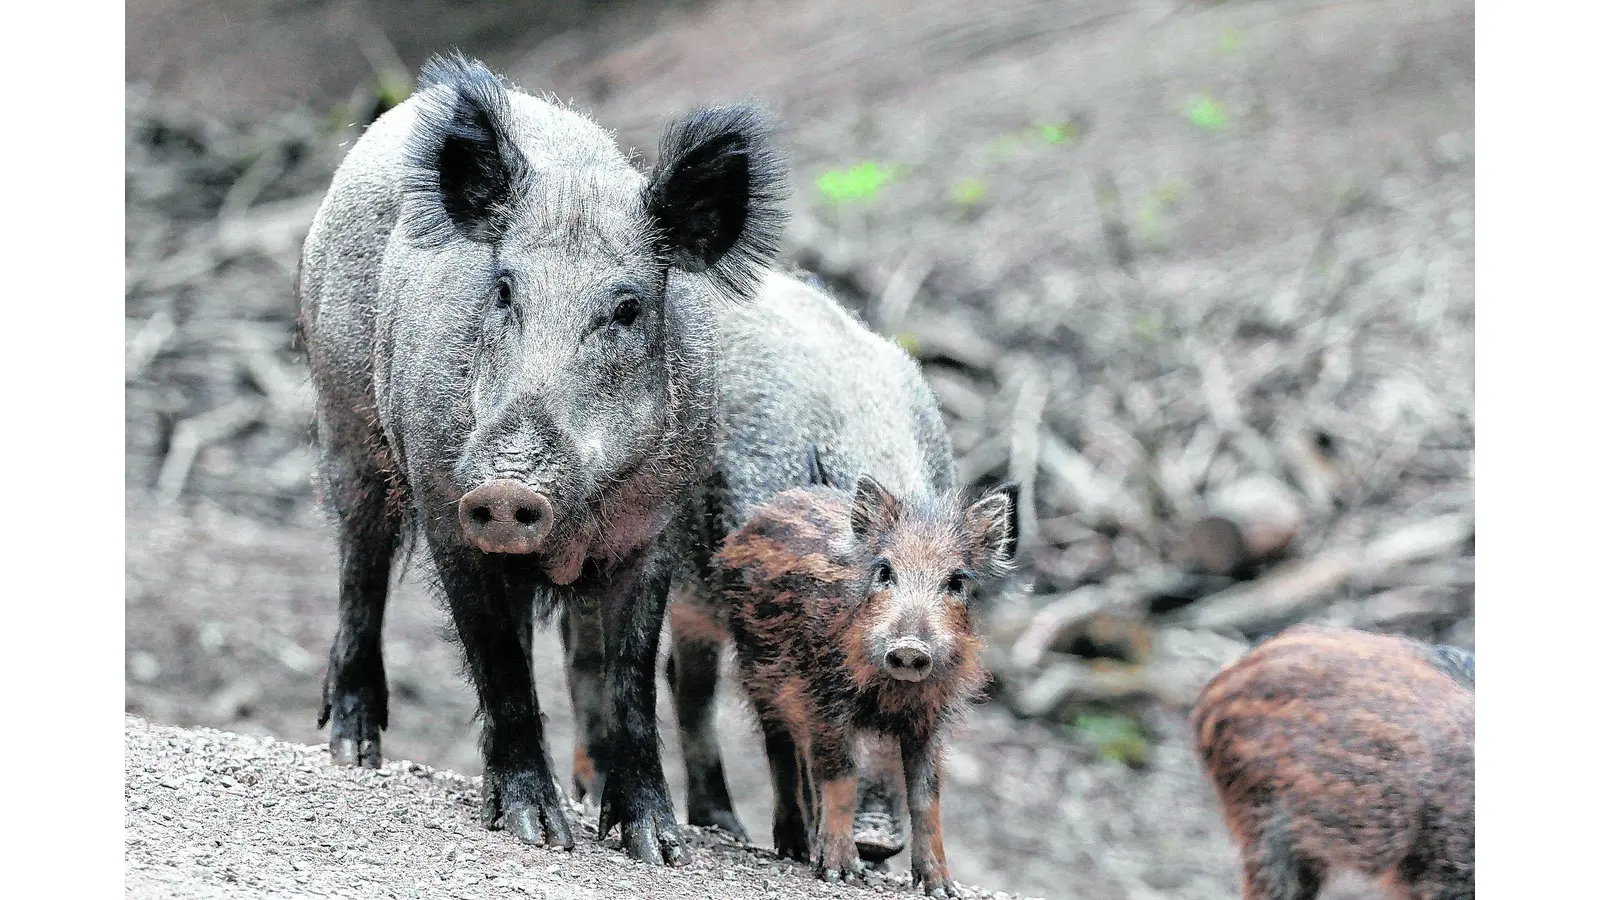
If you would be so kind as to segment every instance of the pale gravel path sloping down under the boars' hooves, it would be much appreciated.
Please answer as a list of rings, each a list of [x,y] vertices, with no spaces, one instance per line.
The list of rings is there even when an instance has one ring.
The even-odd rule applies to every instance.
[[[478,778],[408,761],[344,769],[325,748],[125,721],[128,897],[920,897],[904,876],[822,884],[698,828],[686,868],[643,866],[614,838],[597,842],[576,806],[576,850],[531,849],[478,825]]]

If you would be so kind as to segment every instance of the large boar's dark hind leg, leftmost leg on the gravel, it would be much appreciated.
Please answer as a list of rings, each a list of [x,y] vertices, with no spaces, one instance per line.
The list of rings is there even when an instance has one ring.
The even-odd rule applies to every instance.
[[[381,474],[341,477],[330,466],[328,495],[339,517],[339,631],[328,650],[317,727],[333,722],[328,751],[344,765],[382,765],[379,732],[389,727],[384,676],[384,604],[400,519]]]

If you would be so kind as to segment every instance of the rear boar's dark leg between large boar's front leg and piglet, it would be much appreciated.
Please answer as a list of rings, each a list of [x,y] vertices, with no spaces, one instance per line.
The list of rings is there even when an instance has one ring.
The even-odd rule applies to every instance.
[[[722,660],[722,636],[709,628],[704,612],[675,601],[669,612],[672,657],[667,660],[667,684],[678,714],[678,741],[688,775],[688,823],[714,825],[739,841],[749,834],[733,812],[728,777],[717,748],[717,666]]]

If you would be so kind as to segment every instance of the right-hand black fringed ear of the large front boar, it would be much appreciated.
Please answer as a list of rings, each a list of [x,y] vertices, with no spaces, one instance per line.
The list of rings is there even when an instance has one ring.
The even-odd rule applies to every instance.
[[[736,299],[755,296],[787,218],[789,167],[776,131],[757,106],[694,109],[661,135],[661,160],[645,189],[667,261],[704,272]]]

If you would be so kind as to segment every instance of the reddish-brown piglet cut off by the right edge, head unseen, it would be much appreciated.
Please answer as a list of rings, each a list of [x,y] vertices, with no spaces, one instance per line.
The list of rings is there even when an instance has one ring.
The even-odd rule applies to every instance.
[[[1240,846],[1245,900],[1312,900],[1336,871],[1408,900],[1470,900],[1470,663],[1405,637],[1296,626],[1218,673],[1190,725]]]

